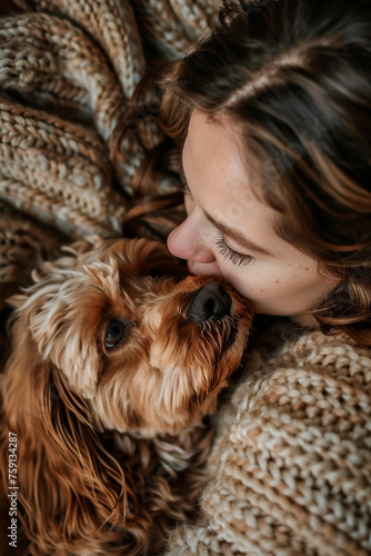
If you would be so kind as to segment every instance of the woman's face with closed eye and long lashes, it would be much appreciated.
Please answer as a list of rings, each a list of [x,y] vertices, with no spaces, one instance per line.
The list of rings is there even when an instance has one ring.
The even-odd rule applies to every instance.
[[[254,312],[305,315],[337,281],[274,234],[278,214],[255,197],[240,152],[228,120],[192,113],[182,153],[188,216],[168,247],[191,274],[222,276]]]

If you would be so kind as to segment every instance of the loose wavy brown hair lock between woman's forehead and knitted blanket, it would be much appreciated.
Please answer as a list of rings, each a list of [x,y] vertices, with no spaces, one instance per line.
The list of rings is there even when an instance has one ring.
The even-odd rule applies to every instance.
[[[158,133],[160,137],[163,135],[159,121],[161,98],[157,89],[160,89],[168,67],[168,63],[162,63],[147,71],[136,88],[129,109],[110,137],[111,159],[118,175],[120,165],[128,163],[128,142],[132,140],[132,135],[143,152],[141,163],[133,168],[128,200],[131,206],[120,221],[126,237],[164,239],[184,218],[181,207],[183,196],[179,178],[179,148],[170,137],[164,137],[162,141],[157,138]],[[148,103],[148,97],[152,99],[152,103]],[[154,128],[150,130],[150,140],[146,141],[143,139],[148,139],[148,122]],[[152,146],[152,142],[156,145]]]

